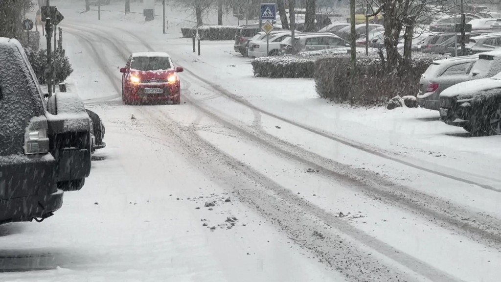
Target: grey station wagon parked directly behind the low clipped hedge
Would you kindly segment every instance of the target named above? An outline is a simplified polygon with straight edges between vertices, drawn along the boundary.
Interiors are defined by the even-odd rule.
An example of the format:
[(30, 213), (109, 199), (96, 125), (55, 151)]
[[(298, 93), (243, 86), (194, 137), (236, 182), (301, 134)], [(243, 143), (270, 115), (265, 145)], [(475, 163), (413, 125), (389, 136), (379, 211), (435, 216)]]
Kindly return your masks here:
[[(297, 36), (294, 48), (297, 52), (316, 51), (350, 46), (348, 42), (331, 33), (303, 33)], [(291, 54), (292, 38), (288, 37), (280, 43), (282, 54)]]

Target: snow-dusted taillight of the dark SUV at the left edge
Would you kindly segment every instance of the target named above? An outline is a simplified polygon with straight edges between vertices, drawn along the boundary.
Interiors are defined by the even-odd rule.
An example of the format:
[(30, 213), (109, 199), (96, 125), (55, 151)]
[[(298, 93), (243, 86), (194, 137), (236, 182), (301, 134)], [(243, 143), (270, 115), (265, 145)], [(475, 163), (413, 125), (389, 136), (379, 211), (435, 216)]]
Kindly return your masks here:
[(33, 117), (25, 133), (25, 155), (45, 154), (49, 152), (47, 120)]

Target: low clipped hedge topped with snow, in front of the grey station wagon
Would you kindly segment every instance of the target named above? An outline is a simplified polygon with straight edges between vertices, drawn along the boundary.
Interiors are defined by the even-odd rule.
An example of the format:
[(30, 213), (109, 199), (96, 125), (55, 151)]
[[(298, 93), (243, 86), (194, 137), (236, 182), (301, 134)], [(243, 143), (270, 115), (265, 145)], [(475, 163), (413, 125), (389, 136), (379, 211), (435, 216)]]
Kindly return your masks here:
[[(370, 54), (376, 51), (370, 48)], [(315, 73), (315, 60), (322, 57), (345, 55), (349, 48), (326, 49), (301, 52), (296, 56), (262, 57), (252, 60), (254, 75), (274, 78), (312, 78)], [(357, 48), (358, 54), (365, 54), (365, 48)]]

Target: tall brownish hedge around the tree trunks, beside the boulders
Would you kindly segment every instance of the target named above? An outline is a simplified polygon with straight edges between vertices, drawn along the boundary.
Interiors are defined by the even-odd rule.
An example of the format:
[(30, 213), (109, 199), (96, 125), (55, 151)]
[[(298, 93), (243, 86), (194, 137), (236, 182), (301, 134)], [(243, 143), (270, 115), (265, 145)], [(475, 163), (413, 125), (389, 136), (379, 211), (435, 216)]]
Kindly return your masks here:
[[(419, 56), (411, 66), (388, 75), (377, 56), (357, 58), (355, 73), (350, 70), (349, 55), (319, 58), (315, 61), (315, 87), (322, 98), (333, 101), (382, 105), (395, 96), (415, 95), (421, 74), (436, 59), (436, 56)], [(351, 79), (355, 83), (350, 83)]]

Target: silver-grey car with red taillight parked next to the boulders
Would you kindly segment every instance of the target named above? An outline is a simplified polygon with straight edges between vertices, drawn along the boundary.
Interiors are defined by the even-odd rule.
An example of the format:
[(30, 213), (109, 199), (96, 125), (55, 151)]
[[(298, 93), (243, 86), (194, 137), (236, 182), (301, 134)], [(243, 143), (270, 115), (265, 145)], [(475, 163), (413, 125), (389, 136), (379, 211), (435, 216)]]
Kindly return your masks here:
[(467, 81), (478, 55), (437, 60), (421, 75), (418, 104), (427, 109), (440, 108), (440, 93), (448, 87)]

